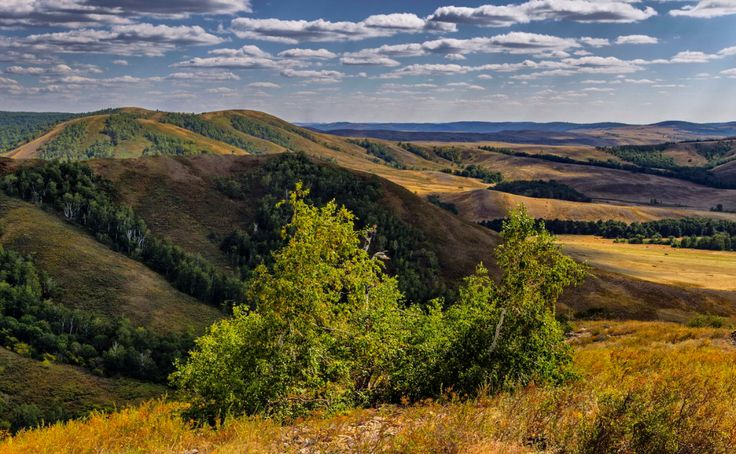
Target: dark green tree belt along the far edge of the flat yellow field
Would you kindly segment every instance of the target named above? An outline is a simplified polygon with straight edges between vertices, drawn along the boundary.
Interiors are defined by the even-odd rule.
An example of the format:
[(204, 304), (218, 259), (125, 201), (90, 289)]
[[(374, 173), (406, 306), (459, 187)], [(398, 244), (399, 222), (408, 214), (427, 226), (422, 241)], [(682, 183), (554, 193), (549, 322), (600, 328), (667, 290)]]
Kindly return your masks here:
[[(543, 220), (539, 223), (560, 235), (597, 235), (604, 238), (627, 240), (632, 244), (669, 244), (673, 247), (706, 249), (714, 251), (736, 250), (736, 222), (682, 218), (662, 219), (632, 224), (621, 221), (569, 221)], [(481, 224), (500, 230), (503, 219), (482, 221)]]

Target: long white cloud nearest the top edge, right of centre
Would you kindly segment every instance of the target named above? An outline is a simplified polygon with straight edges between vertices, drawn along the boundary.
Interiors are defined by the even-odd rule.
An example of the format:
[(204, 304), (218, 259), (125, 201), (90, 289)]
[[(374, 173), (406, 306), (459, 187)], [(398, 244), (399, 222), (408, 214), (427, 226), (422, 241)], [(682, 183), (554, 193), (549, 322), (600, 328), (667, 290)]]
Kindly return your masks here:
[(474, 24), (485, 27), (508, 27), (542, 20), (575, 22), (631, 23), (656, 16), (651, 8), (643, 9), (628, 0), (529, 0), (519, 4), (482, 5), (477, 8), (444, 6), (430, 16), (431, 21)]

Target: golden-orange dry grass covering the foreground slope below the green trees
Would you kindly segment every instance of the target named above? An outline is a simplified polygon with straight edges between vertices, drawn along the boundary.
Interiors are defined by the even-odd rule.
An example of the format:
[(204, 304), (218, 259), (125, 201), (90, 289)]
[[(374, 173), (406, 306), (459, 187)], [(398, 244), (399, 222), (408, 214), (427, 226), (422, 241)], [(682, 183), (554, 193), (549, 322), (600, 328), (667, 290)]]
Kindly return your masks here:
[(726, 328), (578, 322), (578, 379), (473, 401), (384, 406), (278, 424), (196, 428), (152, 401), (19, 433), (7, 453), (732, 452), (736, 348)]

